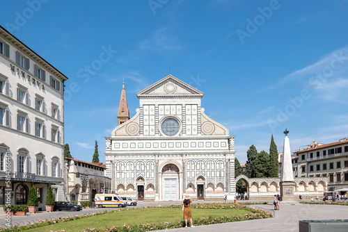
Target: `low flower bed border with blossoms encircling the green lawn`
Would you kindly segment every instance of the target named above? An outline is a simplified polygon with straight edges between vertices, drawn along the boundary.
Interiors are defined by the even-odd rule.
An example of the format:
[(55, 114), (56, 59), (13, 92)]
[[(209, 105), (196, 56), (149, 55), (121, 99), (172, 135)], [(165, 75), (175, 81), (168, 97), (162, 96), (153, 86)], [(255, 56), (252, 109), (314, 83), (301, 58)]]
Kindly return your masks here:
[[(144, 208), (181, 208), (181, 205), (177, 206), (157, 206), (157, 207), (144, 207)], [(249, 208), (242, 204), (192, 204), (191, 208), (205, 208), (205, 209), (226, 209), (226, 215), (223, 215), (221, 217), (196, 217), (193, 218), (193, 224), (195, 225), (206, 225), (206, 224), (219, 224), (219, 223), (225, 223), (225, 222), (237, 222), (237, 221), (244, 221), (244, 220), (251, 220), (251, 219), (262, 219), (262, 218), (269, 218), (272, 217), (271, 213), (267, 212), (266, 210), (258, 210), (255, 208)], [(247, 210), (250, 213), (246, 213), (244, 215), (228, 215), (229, 209), (240, 209), (240, 210)], [(94, 215), (102, 215), (106, 213), (114, 213), (124, 210), (141, 210), (141, 208), (119, 208), (111, 211), (102, 211), (99, 213), (92, 213), (88, 215), (76, 215), (75, 217), (61, 217), (59, 219), (55, 220), (48, 220), (48, 219), (41, 219), (38, 223), (32, 223), (28, 225), (22, 225), (22, 226), (13, 226), (8, 229), (0, 229), (0, 231), (23, 231), (26, 229), (36, 229), (42, 226), (48, 226), (51, 224), (61, 223), (61, 222), (69, 222), (81, 218), (91, 217)], [(87, 228), (83, 231), (155, 231), (159, 229), (173, 229), (173, 228), (180, 228), (182, 226), (182, 223), (184, 220), (180, 219), (177, 221), (171, 221), (171, 222), (153, 222), (153, 223), (144, 223), (144, 224), (124, 224), (124, 225), (118, 225), (118, 226), (106, 226), (102, 229), (97, 228)], [(40, 229), (38, 229), (40, 231)], [(60, 230), (64, 231), (64, 230)], [(55, 231), (58, 232), (58, 231)]]

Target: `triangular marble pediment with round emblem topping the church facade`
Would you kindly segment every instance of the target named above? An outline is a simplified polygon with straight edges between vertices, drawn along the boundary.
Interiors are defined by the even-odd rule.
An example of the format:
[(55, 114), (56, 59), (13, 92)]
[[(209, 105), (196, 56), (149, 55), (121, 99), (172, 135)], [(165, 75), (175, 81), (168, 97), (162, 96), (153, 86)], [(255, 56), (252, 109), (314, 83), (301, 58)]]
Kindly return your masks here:
[(191, 85), (180, 81), (172, 75), (157, 81), (150, 85), (145, 90), (142, 90), (136, 97), (203, 97), (203, 92), (200, 92)]

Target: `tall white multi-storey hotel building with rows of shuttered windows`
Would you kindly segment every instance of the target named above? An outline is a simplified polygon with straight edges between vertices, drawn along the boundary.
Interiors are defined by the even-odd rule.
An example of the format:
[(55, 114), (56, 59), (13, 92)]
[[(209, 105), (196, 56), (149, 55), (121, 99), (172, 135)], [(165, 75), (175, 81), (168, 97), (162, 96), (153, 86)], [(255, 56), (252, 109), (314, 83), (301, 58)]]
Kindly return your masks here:
[(26, 204), (32, 183), (39, 210), (45, 208), (49, 183), (56, 200), (64, 199), (67, 80), (0, 26), (0, 204)]

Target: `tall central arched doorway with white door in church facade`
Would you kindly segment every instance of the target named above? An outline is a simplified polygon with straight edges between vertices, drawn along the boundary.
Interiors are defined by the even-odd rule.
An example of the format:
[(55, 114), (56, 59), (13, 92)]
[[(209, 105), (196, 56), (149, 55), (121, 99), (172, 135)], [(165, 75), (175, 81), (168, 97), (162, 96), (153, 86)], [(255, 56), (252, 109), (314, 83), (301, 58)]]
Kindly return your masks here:
[(179, 196), (179, 168), (169, 163), (162, 168), (162, 179), (164, 183), (164, 200), (176, 201)]

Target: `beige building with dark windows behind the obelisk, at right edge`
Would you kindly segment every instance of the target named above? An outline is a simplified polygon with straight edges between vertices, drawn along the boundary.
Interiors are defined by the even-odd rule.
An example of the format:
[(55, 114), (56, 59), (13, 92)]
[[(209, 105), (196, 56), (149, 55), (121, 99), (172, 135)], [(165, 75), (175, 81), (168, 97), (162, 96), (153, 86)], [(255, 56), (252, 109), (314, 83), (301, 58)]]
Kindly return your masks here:
[(330, 191), (348, 188), (348, 138), (329, 144), (315, 141), (294, 155), (299, 177), (326, 177)]

